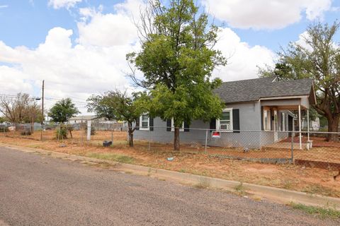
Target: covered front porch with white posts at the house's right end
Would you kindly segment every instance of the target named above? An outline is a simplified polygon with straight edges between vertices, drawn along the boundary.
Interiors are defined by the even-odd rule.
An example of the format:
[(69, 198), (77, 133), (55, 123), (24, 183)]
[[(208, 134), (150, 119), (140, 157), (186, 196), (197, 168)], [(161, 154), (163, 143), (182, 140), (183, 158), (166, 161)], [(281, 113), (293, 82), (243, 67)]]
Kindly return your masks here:
[[(268, 97), (261, 98), (261, 138), (263, 148), (312, 148), (310, 141), (310, 105), (314, 100), (310, 96)], [(307, 131), (302, 131), (302, 113), (307, 118)], [(295, 129), (297, 128), (297, 129)], [(304, 141), (302, 141), (302, 134)], [(290, 137), (297, 136), (298, 142)], [(307, 138), (307, 139), (306, 139)]]

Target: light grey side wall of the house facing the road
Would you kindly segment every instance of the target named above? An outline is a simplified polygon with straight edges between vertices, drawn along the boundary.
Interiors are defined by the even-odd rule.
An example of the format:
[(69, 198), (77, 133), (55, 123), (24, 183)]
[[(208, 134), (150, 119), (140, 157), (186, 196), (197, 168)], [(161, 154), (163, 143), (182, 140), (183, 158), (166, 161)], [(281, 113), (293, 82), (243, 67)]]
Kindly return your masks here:
[[(220, 147), (261, 147), (261, 106), (260, 102), (243, 102), (227, 105), (227, 108), (239, 109), (239, 133), (222, 132), (220, 138), (211, 138), (208, 133), (208, 145)], [(151, 140), (161, 143), (172, 143), (174, 131), (166, 131), (166, 121), (159, 117), (153, 120), (153, 131), (137, 130), (134, 132), (136, 140)], [(203, 130), (198, 130), (203, 129)], [(193, 120), (189, 131), (180, 132), (181, 143), (205, 143), (205, 129), (210, 129), (210, 122)], [(244, 131), (247, 130), (247, 131)]]

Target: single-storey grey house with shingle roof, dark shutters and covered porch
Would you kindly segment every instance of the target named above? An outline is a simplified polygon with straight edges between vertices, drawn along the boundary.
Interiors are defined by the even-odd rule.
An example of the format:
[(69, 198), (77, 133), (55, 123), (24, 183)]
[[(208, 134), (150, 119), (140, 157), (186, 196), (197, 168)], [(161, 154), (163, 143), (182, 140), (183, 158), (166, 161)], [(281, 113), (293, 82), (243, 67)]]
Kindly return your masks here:
[[(261, 148), (290, 136), (297, 111), (307, 111), (316, 103), (314, 85), (311, 79), (279, 81), (278, 78), (255, 78), (225, 82), (214, 92), (225, 103), (222, 117), (210, 122), (201, 120), (186, 123), (180, 129), (181, 143), (205, 143), (209, 130), (208, 145), (222, 147)], [(159, 117), (150, 119), (147, 114), (140, 116), (140, 129), (135, 139), (171, 143), (174, 139), (173, 121)], [(212, 131), (220, 131), (220, 138), (212, 138)], [(300, 148), (301, 148), (301, 133)]]

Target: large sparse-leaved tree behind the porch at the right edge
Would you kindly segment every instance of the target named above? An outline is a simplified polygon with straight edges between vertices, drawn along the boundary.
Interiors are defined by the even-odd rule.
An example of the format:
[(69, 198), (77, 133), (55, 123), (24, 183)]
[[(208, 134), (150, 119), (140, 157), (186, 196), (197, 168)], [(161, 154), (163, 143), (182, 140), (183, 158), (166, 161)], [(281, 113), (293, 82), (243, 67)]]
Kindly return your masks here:
[[(290, 42), (278, 53), (274, 69), (260, 70), (261, 76), (292, 80), (313, 78), (317, 94), (317, 113), (328, 121), (328, 131), (338, 132), (340, 118), (340, 47), (334, 37), (339, 23), (316, 23), (307, 28), (305, 44)], [(329, 133), (329, 141), (339, 141), (339, 136)]]

